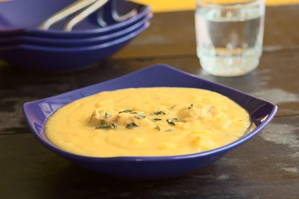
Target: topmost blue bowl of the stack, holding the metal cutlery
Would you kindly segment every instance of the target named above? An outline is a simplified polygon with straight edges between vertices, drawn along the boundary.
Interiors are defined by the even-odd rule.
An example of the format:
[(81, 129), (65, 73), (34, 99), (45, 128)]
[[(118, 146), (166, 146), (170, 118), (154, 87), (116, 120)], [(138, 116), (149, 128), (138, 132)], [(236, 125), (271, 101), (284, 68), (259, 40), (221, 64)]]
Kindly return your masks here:
[[(140, 21), (151, 10), (150, 7), (142, 6), (138, 9), (138, 14), (123, 22), (117, 22), (111, 14), (112, 3), (110, 0), (101, 10), (103, 10), (103, 20), (106, 27), (98, 23), (98, 14), (94, 12), (87, 19), (74, 26), (71, 32), (62, 30), (68, 19), (54, 24), (49, 30), (41, 30), (37, 27), (52, 14), (65, 8), (76, 0), (11, 0), (1, 2), (0, 5), (0, 36), (31, 35), (55, 38), (86, 38), (106, 35), (128, 28)], [(126, 3), (123, 3), (125, 6)], [(131, 6), (131, 3), (128, 4)], [(22, 11), (20, 11), (22, 10)]]

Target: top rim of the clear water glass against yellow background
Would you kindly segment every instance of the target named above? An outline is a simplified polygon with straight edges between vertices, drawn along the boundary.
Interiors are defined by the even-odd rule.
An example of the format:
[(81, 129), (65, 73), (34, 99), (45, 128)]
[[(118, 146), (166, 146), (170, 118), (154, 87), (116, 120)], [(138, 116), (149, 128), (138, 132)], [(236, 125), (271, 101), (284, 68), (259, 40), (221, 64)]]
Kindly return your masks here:
[(255, 0), (250, 2), (239, 2), (239, 3), (227, 3), (227, 4), (219, 4), (212, 2), (204, 2), (202, 0), (196, 0), (196, 5), (204, 5), (205, 7), (211, 8), (229, 8), (229, 9), (240, 9), (247, 7), (254, 7), (258, 5), (265, 5), (265, 0)]

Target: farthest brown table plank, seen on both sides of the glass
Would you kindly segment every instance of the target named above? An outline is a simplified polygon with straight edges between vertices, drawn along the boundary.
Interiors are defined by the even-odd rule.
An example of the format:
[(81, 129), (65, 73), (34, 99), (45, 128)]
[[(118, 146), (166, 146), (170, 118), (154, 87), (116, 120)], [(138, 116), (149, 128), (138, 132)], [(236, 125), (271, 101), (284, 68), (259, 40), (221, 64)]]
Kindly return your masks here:
[[(299, 5), (266, 8), (264, 52), (299, 50)], [(194, 11), (154, 13), (149, 28), (113, 58), (196, 54)]]

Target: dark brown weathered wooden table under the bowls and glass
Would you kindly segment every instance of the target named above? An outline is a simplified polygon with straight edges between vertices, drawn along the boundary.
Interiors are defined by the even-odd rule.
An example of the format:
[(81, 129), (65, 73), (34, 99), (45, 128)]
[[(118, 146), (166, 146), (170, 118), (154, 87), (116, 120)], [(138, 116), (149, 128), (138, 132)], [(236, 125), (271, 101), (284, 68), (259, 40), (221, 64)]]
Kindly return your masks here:
[[(267, 8), (264, 54), (253, 73), (207, 75), (195, 55), (192, 11), (156, 13), (150, 28), (112, 59), (80, 73), (0, 70), (1, 199), (299, 199), (299, 5)], [(126, 180), (74, 166), (45, 149), (21, 106), (166, 63), (278, 104), (273, 122), (225, 158), (185, 176)]]

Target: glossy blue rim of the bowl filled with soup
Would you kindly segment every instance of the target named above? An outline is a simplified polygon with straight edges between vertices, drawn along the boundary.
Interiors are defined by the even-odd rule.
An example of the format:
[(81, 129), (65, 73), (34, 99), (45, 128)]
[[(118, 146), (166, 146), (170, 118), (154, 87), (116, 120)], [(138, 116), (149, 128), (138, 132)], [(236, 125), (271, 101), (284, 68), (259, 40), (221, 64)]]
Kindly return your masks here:
[[(56, 95), (56, 96), (52, 96), (52, 97), (49, 97), (49, 98), (44, 98), (44, 99), (40, 99), (40, 100), (34, 100), (34, 101), (30, 101), (30, 102), (26, 102), (23, 104), (22, 106), (22, 110), (23, 110), (23, 115), (25, 117), (25, 120), (26, 120), (26, 123), (27, 125), (29, 126), (31, 132), (33, 133), (33, 135), (36, 137), (36, 139), (41, 142), (42, 145), (44, 145), (47, 149), (49, 149), (50, 151), (52, 152), (59, 152), (59, 154), (63, 154), (64, 157), (70, 157), (70, 158), (76, 158), (76, 159), (85, 159), (85, 160), (88, 160), (88, 161), (103, 161), (103, 162), (106, 162), (106, 161), (129, 161), (129, 162), (135, 162), (135, 161), (140, 161), (140, 162), (153, 162), (153, 161), (170, 161), (170, 160), (180, 160), (180, 159), (190, 159), (190, 158), (197, 158), (197, 157), (202, 157), (202, 156), (208, 156), (208, 155), (213, 155), (213, 154), (216, 154), (216, 153), (219, 153), (219, 152), (222, 152), (222, 151), (226, 151), (226, 150), (229, 150), (229, 149), (232, 149), (232, 148), (235, 148), (241, 144), (243, 144), (244, 142), (248, 141), (250, 138), (254, 137), (255, 135), (257, 135), (263, 128), (265, 128), (266, 125), (268, 125), (268, 123), (274, 118), (276, 112), (277, 112), (277, 105), (272, 103), (272, 102), (269, 102), (267, 100), (262, 100), (262, 99), (259, 99), (257, 97), (254, 97), (250, 94), (246, 94), (242, 91), (239, 91), (239, 90), (236, 90), (236, 89), (233, 89), (233, 88), (230, 88), (228, 86), (225, 86), (225, 85), (221, 85), (219, 83), (215, 83), (215, 82), (212, 82), (212, 81), (209, 81), (209, 80), (205, 80), (203, 79), (204, 81), (206, 81), (207, 83), (209, 84), (213, 84), (213, 85), (218, 85), (218, 86), (221, 86), (221, 87), (225, 87), (225, 88), (228, 88), (230, 90), (233, 90), (234, 92), (238, 92), (238, 93), (241, 93), (243, 95), (246, 95), (246, 96), (250, 96), (254, 99), (258, 99), (258, 100), (262, 100), (262, 101), (265, 101), (267, 102), (268, 104), (271, 104), (273, 106), (271, 112), (269, 113), (269, 115), (267, 116), (267, 118), (257, 127), (255, 128), (253, 131), (251, 131), (250, 133), (248, 133), (247, 135), (239, 138), (238, 140), (232, 142), (232, 143), (229, 143), (227, 145), (224, 145), (222, 147), (219, 147), (219, 148), (216, 148), (216, 149), (212, 149), (212, 150), (208, 150), (208, 151), (203, 151), (203, 152), (198, 152), (198, 153), (193, 153), (193, 154), (184, 154), (184, 155), (175, 155), (175, 156), (118, 156), (118, 157), (91, 157), (91, 156), (83, 156), (83, 155), (78, 155), (78, 154), (74, 154), (74, 153), (71, 153), (71, 152), (67, 152), (63, 149), (60, 149), (59, 147), (55, 146), (54, 144), (50, 143), (50, 141), (46, 141), (44, 140), (41, 135), (36, 131), (35, 127), (32, 126), (28, 121), (29, 121), (29, 116), (28, 116), (28, 111), (29, 109), (27, 109), (27, 106), (29, 104), (32, 104), (32, 103), (36, 103), (38, 101), (41, 101), (41, 100), (46, 100), (46, 99), (51, 99), (53, 97), (59, 97), (59, 96), (65, 96), (65, 95), (68, 95), (68, 94), (71, 94), (71, 93), (77, 93), (79, 92), (80, 90), (82, 89), (88, 89), (88, 88), (91, 88), (95, 85), (99, 85), (99, 84), (102, 84), (102, 83), (109, 83), (109, 82), (113, 82), (115, 80), (120, 80), (122, 78), (125, 78), (125, 77), (130, 77), (131, 75), (136, 75), (138, 73), (142, 73), (142, 72), (145, 72), (149, 69), (152, 69), (152, 68), (155, 68), (155, 67), (164, 67), (164, 68), (167, 68), (167, 69), (171, 69), (171, 70), (174, 70), (176, 72), (179, 72), (179, 73), (182, 73), (182, 74), (185, 74), (185, 75), (189, 75), (189, 76), (192, 76), (192, 77), (195, 77), (195, 78), (198, 78), (198, 79), (202, 79), (202, 78), (199, 78), (198, 76), (195, 76), (193, 74), (189, 74), (187, 72), (184, 72), (184, 71), (181, 71), (181, 70), (178, 70), (176, 68), (173, 68), (171, 66), (168, 66), (166, 64), (156, 64), (156, 65), (152, 65), (152, 66), (149, 66), (149, 67), (146, 67), (146, 68), (143, 68), (143, 69), (140, 69), (138, 71), (134, 71), (132, 73), (129, 73), (129, 74), (126, 74), (126, 75), (123, 75), (123, 76), (120, 76), (120, 77), (117, 77), (117, 78), (114, 78), (112, 80), (108, 80), (108, 81), (105, 81), (105, 82), (101, 82), (101, 83), (98, 83), (98, 84), (94, 84), (94, 85), (90, 85), (90, 86), (87, 86), (87, 87), (83, 87), (83, 88), (80, 88), (80, 89), (76, 89), (74, 91), (69, 91), (69, 92), (66, 92), (66, 93), (63, 93), (63, 94), (59, 94), (59, 95)], [(78, 99), (79, 100), (79, 99)], [(52, 114), (52, 113), (51, 113)], [(46, 118), (48, 118), (49, 116), (47, 116)], [(46, 119), (45, 119), (46, 121)], [(43, 122), (43, 126), (45, 124), (45, 121)], [(42, 127), (43, 127), (42, 126)]]

